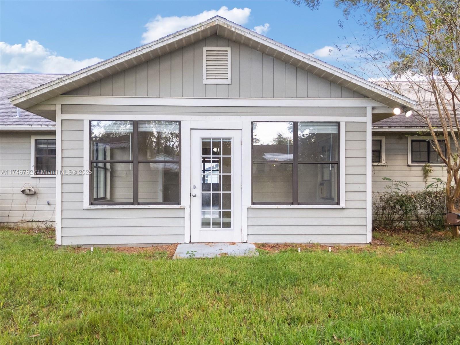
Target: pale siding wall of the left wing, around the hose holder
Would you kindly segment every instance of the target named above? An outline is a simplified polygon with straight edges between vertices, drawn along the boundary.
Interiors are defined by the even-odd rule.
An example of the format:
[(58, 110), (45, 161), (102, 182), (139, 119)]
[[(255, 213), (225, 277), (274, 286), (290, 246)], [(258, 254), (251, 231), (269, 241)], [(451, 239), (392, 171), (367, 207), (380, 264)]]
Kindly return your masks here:
[[(51, 132), (1, 132), (0, 171), (30, 170), (31, 135), (52, 135)], [(21, 193), (29, 183), (33, 195)], [(47, 204), (49, 201), (50, 205)], [(56, 213), (56, 178), (32, 178), (19, 173), (2, 173), (0, 176), (0, 223), (18, 223), (23, 226), (54, 224)], [(37, 223), (40, 222), (40, 223)]]

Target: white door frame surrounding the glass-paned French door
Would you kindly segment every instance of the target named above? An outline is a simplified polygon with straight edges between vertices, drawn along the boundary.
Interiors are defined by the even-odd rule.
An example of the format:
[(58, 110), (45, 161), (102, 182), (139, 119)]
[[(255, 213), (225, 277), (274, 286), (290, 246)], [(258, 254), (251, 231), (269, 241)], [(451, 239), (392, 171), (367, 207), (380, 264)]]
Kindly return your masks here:
[[(247, 242), (247, 208), (251, 205), (251, 160), (245, 157), (251, 156), (251, 120), (220, 121), (219, 114), (211, 114), (205, 121), (181, 121), (181, 142), (184, 148), (181, 152), (181, 206), (184, 207), (184, 243), (190, 243), (190, 190), (191, 190), (191, 130), (192, 129), (240, 129), (242, 130), (242, 241)], [(189, 149), (185, 149), (186, 147)]]

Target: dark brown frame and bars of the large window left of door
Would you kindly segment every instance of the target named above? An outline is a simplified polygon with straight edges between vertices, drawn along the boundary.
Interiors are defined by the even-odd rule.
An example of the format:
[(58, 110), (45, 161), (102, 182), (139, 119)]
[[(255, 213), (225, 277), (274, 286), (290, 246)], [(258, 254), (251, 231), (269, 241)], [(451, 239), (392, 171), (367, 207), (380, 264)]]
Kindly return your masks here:
[[(131, 121), (132, 122), (132, 160), (93, 160), (92, 159), (92, 132), (91, 132), (91, 122), (92, 121)], [(138, 160), (138, 123), (139, 121), (173, 121), (179, 123), (179, 159), (175, 161), (161, 161), (161, 160)], [(182, 184), (182, 169), (181, 169), (181, 161), (182, 161), (182, 122), (181, 121), (174, 121), (174, 120), (90, 120), (89, 121), (89, 166), (90, 170), (92, 171), (92, 164), (93, 163), (104, 163), (104, 170), (105, 164), (107, 163), (130, 163), (132, 164), (132, 202), (101, 202), (97, 199), (93, 199), (92, 195), (92, 177), (89, 178), (89, 204), (90, 205), (112, 205), (112, 206), (123, 206), (123, 205), (132, 205), (132, 206), (143, 206), (143, 205), (180, 205), (181, 202), (181, 184)], [(105, 157), (105, 153), (104, 153)], [(138, 166), (142, 163), (150, 163), (150, 164), (178, 164), (179, 167), (179, 200), (177, 202), (139, 202), (138, 194), (139, 194), (139, 173), (138, 173)], [(105, 195), (105, 187), (104, 187), (104, 195)]]

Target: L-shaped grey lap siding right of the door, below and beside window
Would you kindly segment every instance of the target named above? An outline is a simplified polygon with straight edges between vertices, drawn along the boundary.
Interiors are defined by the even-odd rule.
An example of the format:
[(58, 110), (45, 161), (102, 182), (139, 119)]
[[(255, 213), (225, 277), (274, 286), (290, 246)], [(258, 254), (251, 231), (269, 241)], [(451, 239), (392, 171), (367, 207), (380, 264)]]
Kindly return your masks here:
[(249, 208), (248, 242), (366, 242), (366, 123), (345, 127), (345, 209)]

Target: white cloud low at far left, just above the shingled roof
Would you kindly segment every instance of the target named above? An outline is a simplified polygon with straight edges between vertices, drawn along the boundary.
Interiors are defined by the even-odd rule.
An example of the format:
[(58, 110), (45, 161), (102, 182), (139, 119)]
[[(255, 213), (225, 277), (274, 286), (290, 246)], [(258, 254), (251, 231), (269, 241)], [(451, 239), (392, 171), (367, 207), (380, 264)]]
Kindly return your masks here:
[(36, 40), (24, 45), (0, 42), (0, 71), (3, 73), (71, 73), (102, 61), (99, 57), (84, 60), (57, 55)]

